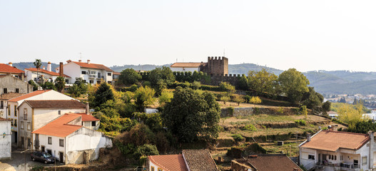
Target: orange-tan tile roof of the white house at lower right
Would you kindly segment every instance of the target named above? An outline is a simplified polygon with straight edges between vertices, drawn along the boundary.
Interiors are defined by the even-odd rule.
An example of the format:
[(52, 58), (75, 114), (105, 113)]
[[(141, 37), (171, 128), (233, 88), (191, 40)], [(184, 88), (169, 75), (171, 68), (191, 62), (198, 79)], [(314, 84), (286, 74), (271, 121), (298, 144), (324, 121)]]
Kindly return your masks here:
[(321, 130), (311, 138), (310, 142), (305, 142), (301, 147), (332, 152), (339, 148), (358, 150), (369, 140), (370, 136), (367, 134)]

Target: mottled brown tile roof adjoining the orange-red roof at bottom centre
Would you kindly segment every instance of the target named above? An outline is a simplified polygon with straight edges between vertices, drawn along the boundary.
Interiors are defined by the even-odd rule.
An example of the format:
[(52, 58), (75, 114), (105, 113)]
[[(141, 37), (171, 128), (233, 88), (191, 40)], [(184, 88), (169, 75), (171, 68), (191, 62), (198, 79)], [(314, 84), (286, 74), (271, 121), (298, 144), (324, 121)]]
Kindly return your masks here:
[(218, 170), (209, 150), (183, 150), (183, 157), (185, 157), (191, 171)]

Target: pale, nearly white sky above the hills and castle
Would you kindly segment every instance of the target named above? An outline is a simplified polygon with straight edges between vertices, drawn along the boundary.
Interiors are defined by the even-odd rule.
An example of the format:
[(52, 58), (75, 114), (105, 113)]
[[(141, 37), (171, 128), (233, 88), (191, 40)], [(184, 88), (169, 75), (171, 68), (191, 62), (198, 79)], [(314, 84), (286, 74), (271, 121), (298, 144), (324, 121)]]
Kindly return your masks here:
[[(0, 0), (0, 63), (376, 71), (376, 1)], [(80, 55), (81, 53), (81, 55)]]

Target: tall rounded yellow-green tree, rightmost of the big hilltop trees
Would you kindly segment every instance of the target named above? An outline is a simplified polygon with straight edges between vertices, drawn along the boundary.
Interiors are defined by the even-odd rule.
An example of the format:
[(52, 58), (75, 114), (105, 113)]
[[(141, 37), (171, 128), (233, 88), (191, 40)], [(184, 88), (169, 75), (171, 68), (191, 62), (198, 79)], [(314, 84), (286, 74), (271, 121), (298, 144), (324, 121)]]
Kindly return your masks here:
[(288, 71), (280, 73), (278, 78), (281, 91), (288, 97), (290, 103), (300, 104), (303, 98), (303, 93), (309, 91), (308, 85), (310, 81), (295, 68), (290, 68)]

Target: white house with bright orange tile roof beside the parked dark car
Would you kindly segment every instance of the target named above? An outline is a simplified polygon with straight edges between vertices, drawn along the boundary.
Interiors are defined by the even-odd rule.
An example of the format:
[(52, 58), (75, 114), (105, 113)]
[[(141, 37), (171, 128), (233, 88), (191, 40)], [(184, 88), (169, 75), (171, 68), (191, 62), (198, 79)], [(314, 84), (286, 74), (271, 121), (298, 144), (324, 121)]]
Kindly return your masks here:
[(66, 165), (97, 160), (99, 150), (112, 147), (112, 141), (101, 132), (83, 127), (81, 122), (81, 115), (62, 115), (34, 130), (34, 140), (39, 143), (41, 150), (46, 150)]

